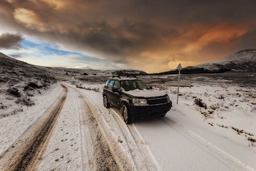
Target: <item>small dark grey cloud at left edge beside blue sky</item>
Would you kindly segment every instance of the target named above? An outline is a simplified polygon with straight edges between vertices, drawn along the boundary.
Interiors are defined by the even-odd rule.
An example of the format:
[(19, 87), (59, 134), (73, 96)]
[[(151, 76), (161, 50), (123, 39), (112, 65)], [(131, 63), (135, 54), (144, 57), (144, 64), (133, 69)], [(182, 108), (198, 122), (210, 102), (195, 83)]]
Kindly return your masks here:
[(4, 33), (0, 35), (0, 48), (19, 48), (22, 40), (24, 39), (20, 34)]

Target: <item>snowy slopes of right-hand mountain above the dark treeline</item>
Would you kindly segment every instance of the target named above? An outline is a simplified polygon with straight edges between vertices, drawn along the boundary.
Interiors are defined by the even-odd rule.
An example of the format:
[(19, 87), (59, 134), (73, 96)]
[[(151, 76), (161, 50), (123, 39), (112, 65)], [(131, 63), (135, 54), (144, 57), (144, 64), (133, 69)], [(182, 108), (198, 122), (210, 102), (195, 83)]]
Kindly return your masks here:
[(195, 67), (209, 70), (228, 68), (234, 71), (256, 71), (256, 49), (232, 53), (215, 62), (204, 63)]

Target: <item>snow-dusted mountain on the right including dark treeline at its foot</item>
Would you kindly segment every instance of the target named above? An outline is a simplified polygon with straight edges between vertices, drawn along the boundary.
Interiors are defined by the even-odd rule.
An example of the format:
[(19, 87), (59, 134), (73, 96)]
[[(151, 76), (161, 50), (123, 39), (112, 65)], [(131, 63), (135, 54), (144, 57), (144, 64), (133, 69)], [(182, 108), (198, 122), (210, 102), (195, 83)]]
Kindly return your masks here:
[[(189, 66), (181, 69), (181, 74), (222, 73), (226, 71), (256, 71), (256, 49), (232, 53), (215, 62)], [(178, 74), (178, 70), (160, 72), (157, 75)]]

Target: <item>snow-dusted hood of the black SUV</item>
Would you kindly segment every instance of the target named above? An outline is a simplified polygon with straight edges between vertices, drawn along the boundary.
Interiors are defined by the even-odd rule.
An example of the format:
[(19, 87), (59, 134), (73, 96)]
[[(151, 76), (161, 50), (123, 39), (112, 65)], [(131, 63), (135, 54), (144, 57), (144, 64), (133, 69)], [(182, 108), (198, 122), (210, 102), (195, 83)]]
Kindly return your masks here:
[(132, 96), (135, 96), (135, 97), (157, 97), (157, 96), (166, 95), (166, 93), (164, 93), (164, 92), (161, 92), (159, 90), (152, 90), (152, 89), (150, 89), (150, 90), (136, 89), (136, 90), (131, 90), (131, 91), (123, 91), (123, 92), (126, 93), (126, 94), (130, 94)]

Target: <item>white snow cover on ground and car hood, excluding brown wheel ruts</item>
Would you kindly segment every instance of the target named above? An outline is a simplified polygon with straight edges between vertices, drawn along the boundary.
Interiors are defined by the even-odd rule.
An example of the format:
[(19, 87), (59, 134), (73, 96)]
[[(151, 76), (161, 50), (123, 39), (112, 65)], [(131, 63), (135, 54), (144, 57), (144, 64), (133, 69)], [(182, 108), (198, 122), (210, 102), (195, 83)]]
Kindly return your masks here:
[[(103, 107), (104, 83), (69, 80), (68, 85), (73, 89), (68, 88), (66, 102), (48, 146), (40, 156), (38, 169), (88, 169), (83, 167), (83, 162), (88, 160), (83, 158), (83, 148), (89, 144), (83, 141), (79, 120), (78, 96), (83, 95), (111, 150), (117, 158), (123, 158), (119, 162), (123, 166), (130, 164), (127, 170), (255, 170), (255, 142), (249, 140), (256, 139), (255, 88), (219, 82), (223, 82), (222, 86), (193, 83), (193, 87), (180, 87), (179, 104), (172, 103), (165, 117), (138, 119), (126, 126), (118, 108)], [(23, 112), (0, 119), (0, 155), (61, 92), (58, 84), (49, 94), (39, 96), (34, 106), (23, 107)], [(171, 101), (176, 102), (177, 87), (165, 83), (164, 87), (161, 84), (153, 90), (126, 93), (168, 94)], [(194, 104), (195, 99), (201, 99), (206, 108)]]

